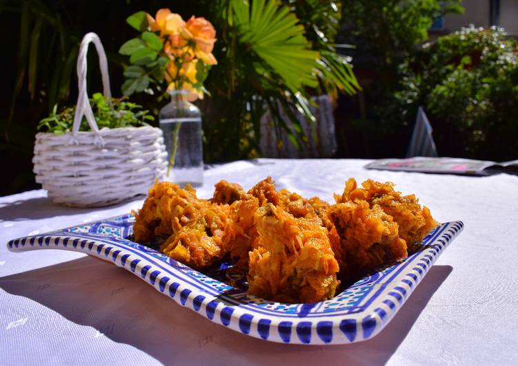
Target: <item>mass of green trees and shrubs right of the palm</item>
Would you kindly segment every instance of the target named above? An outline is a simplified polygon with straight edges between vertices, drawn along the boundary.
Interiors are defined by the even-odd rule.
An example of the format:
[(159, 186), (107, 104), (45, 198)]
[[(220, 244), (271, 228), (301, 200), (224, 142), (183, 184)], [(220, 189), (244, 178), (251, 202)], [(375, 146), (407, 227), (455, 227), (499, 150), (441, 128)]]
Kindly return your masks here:
[[(417, 108), (424, 107), (441, 156), (515, 160), (517, 43), (498, 29), (466, 29), (428, 39), (440, 14), (461, 1), (344, 1), (353, 43), (358, 103), (337, 114), (343, 155), (406, 155)], [(350, 138), (355, 136), (356, 138)], [(360, 138), (359, 138), (360, 137)]]

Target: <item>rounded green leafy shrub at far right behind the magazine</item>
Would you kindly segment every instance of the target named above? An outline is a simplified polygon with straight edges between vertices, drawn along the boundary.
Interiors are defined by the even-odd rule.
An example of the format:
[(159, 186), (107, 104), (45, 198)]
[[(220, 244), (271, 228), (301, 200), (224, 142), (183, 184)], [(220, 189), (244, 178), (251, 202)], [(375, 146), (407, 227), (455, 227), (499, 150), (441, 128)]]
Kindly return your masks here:
[(399, 103), (424, 106), (440, 155), (517, 158), (517, 42), (504, 30), (471, 27), (443, 36), (405, 72)]

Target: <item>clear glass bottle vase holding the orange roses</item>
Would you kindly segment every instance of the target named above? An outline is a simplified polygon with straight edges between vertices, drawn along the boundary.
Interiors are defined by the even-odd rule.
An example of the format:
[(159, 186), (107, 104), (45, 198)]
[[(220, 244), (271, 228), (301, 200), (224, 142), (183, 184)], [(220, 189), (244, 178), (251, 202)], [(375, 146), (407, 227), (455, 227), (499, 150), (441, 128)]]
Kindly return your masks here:
[(203, 184), (201, 113), (188, 102), (186, 90), (169, 92), (171, 101), (160, 110), (160, 129), (168, 151), (166, 180), (180, 185)]

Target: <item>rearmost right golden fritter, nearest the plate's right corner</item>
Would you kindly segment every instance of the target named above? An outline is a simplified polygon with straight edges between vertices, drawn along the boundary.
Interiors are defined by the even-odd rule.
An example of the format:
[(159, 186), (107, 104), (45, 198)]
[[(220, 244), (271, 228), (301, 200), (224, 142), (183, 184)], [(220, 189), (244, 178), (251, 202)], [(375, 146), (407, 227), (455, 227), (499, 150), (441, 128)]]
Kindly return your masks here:
[(379, 205), (399, 225), (399, 236), (408, 246), (421, 242), (439, 223), (433, 219), (430, 210), (419, 205), (415, 195), (401, 195), (394, 191), (392, 182), (380, 183), (366, 180), (357, 188), (356, 181), (350, 178), (341, 196), (335, 195), (337, 203), (365, 200), (369, 206)]

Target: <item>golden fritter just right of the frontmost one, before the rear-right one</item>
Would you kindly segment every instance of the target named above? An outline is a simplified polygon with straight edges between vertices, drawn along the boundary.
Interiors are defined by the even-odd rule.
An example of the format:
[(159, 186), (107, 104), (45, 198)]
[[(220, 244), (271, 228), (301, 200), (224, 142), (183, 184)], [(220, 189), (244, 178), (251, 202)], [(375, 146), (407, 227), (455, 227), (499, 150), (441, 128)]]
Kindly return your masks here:
[(348, 274), (357, 275), (407, 256), (398, 225), (379, 205), (363, 200), (330, 206), (328, 215), (346, 253)]

